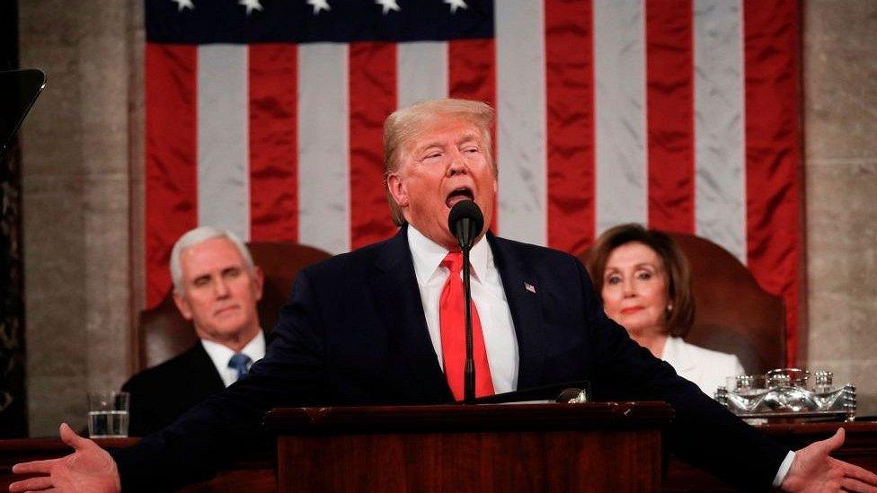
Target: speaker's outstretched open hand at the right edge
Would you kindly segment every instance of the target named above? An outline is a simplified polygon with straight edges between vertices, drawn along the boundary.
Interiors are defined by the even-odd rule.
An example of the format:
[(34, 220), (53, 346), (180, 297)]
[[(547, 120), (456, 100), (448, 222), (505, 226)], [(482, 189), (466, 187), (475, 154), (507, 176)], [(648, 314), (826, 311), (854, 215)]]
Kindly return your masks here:
[(844, 445), (845, 436), (844, 428), (840, 428), (831, 438), (813, 442), (795, 452), (781, 488), (784, 491), (877, 492), (877, 474), (830, 456)]

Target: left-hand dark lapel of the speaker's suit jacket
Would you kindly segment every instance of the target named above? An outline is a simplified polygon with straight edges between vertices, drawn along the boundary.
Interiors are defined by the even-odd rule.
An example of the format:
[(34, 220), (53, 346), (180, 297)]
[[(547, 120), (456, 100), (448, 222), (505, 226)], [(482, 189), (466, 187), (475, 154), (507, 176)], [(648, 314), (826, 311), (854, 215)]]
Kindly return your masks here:
[(407, 227), (401, 228), (376, 254), (376, 273), (368, 277), (369, 284), (390, 333), (421, 384), (421, 394), (429, 401), (435, 401), (437, 395), (453, 401), (432, 347), (407, 233)]

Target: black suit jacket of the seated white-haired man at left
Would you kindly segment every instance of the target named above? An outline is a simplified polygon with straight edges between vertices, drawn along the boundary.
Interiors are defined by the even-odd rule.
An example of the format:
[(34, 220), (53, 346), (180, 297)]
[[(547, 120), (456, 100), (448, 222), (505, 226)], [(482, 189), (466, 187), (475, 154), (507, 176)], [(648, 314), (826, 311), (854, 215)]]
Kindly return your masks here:
[(122, 385), (122, 391), (131, 394), (128, 435), (151, 435), (225, 388), (199, 341), (181, 355), (132, 376)]

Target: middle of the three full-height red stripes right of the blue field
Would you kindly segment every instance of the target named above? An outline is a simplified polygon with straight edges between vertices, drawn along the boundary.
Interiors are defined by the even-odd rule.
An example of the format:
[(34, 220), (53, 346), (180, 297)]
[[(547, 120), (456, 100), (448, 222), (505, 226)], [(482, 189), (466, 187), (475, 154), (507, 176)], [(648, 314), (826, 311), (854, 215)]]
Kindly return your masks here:
[(691, 0), (647, 0), (649, 226), (695, 233), (695, 92)]

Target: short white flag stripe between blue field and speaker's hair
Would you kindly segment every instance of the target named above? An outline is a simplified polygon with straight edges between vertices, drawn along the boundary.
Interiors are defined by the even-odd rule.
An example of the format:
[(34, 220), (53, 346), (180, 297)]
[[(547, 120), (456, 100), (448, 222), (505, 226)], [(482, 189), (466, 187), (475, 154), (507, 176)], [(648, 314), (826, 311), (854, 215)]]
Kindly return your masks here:
[(447, 43), (417, 41), (397, 46), (397, 107), (447, 98)]

